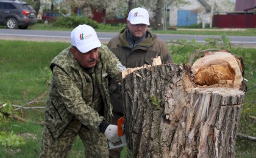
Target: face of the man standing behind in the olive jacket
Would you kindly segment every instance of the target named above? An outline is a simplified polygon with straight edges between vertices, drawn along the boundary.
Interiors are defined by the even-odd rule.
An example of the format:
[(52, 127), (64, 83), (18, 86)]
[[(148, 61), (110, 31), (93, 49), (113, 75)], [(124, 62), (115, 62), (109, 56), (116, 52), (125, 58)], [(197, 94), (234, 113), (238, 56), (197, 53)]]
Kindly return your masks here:
[(147, 29), (148, 29), (148, 25), (146, 24), (131, 24), (130, 21), (126, 21), (127, 23), (127, 27), (130, 30), (130, 34), (132, 34), (132, 36), (135, 36), (137, 38), (140, 38), (141, 36), (143, 36)]

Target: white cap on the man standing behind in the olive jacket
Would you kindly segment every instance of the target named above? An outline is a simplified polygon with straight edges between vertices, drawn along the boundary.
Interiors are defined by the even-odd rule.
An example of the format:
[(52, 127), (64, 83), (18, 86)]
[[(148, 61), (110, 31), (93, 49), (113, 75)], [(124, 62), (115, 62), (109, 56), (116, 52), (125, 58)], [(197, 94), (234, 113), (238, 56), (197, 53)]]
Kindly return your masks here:
[(130, 21), (131, 24), (146, 24), (149, 26), (149, 12), (143, 8), (135, 8), (130, 10), (127, 20)]

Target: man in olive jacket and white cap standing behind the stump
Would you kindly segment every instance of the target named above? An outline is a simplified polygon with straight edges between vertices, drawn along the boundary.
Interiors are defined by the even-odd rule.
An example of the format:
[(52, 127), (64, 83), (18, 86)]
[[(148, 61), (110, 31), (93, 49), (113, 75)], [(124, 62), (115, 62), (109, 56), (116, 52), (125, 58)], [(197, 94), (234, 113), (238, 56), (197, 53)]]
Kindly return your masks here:
[[(127, 68), (140, 67), (144, 64), (152, 65), (152, 58), (158, 56), (161, 57), (163, 64), (173, 63), (166, 43), (152, 34), (148, 26), (148, 11), (140, 7), (132, 9), (127, 18), (127, 28), (109, 41), (108, 48)], [(123, 109), (119, 86), (113, 80), (110, 84), (110, 100), (113, 105), (112, 124), (116, 125), (117, 119), (123, 116)], [(119, 156), (114, 156), (113, 153), (114, 150), (110, 150), (110, 155)]]

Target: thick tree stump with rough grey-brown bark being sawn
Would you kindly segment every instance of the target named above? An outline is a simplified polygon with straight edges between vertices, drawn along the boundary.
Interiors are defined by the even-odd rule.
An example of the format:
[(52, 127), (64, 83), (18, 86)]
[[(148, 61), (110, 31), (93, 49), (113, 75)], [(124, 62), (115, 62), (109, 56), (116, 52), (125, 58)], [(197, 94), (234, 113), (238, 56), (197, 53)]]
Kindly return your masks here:
[(244, 92), (197, 85), (190, 72), (184, 65), (162, 64), (123, 79), (125, 133), (133, 157), (235, 157)]

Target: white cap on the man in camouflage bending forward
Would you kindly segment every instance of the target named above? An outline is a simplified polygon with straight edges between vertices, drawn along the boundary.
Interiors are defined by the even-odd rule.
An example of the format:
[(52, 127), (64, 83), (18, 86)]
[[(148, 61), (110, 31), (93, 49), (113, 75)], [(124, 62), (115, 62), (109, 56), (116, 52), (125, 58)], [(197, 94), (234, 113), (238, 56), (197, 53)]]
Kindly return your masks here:
[(70, 40), (72, 46), (76, 46), (82, 53), (87, 53), (96, 47), (101, 47), (101, 42), (93, 27), (85, 24), (79, 25), (72, 30)]

